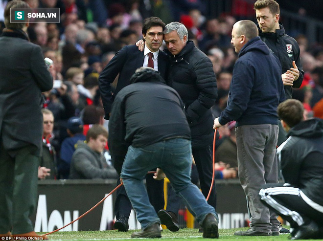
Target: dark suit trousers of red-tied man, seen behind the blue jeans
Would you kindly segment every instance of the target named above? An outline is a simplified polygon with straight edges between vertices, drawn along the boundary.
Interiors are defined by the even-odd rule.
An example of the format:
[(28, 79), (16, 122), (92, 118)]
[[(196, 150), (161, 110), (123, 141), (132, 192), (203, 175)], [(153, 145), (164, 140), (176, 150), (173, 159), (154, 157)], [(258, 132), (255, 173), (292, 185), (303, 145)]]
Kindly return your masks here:
[[(164, 208), (164, 181), (157, 181), (153, 178), (154, 174), (146, 175), (146, 187), (151, 205), (155, 208), (156, 213)], [(120, 184), (120, 179), (117, 180), (116, 185)], [(116, 190), (115, 198), (115, 218), (120, 216), (129, 218), (132, 206), (127, 196), (124, 186)]]

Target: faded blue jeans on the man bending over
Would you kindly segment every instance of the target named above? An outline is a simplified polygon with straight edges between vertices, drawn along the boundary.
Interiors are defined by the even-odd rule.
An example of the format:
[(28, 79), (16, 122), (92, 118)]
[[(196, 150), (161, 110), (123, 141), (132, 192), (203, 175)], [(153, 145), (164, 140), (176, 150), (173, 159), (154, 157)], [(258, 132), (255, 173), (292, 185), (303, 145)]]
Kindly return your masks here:
[(183, 198), (186, 207), (200, 224), (209, 213), (218, 219), (214, 208), (208, 205), (198, 187), (191, 183), (191, 164), (191, 144), (186, 139), (164, 140), (142, 148), (129, 147), (121, 178), (142, 229), (161, 223), (149, 203), (143, 183), (147, 172), (157, 167), (163, 170), (175, 192)]

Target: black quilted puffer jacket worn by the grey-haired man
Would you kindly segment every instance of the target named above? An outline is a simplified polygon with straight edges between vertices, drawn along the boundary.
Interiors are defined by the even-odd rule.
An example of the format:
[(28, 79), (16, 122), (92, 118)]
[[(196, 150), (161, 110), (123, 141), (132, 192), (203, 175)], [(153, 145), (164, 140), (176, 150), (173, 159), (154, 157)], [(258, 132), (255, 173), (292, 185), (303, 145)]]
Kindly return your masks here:
[(210, 108), (217, 98), (212, 63), (192, 41), (188, 41), (176, 56), (168, 50), (165, 52), (171, 60), (167, 84), (180, 94), (185, 104), (192, 147), (211, 145), (214, 118)]

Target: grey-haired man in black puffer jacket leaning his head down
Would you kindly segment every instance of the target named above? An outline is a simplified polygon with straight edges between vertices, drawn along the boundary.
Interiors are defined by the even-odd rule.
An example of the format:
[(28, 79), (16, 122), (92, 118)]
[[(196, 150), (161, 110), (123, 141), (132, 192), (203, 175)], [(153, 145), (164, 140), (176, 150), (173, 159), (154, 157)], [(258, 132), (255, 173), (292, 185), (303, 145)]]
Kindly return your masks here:
[[(163, 33), (167, 46), (165, 52), (171, 61), (167, 84), (180, 94), (184, 102), (191, 131), (192, 153), (202, 193), (207, 197), (212, 180), (211, 146), (214, 132), (210, 108), (217, 98), (215, 74), (210, 59), (192, 41), (187, 41), (184, 24), (168, 23)], [(216, 209), (215, 185), (208, 203)]]

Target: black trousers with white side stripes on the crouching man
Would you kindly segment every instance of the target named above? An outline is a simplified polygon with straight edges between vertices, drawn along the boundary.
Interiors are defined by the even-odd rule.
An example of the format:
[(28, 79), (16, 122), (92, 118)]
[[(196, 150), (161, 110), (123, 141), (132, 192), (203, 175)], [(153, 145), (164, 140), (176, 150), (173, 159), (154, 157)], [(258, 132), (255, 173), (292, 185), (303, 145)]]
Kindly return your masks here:
[(307, 204), (299, 188), (283, 185), (282, 183), (268, 183), (263, 186), (259, 192), (261, 201), (287, 220), (292, 228), (313, 220), (322, 229), (323, 213)]

